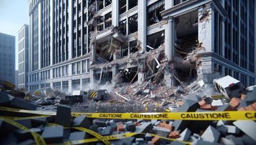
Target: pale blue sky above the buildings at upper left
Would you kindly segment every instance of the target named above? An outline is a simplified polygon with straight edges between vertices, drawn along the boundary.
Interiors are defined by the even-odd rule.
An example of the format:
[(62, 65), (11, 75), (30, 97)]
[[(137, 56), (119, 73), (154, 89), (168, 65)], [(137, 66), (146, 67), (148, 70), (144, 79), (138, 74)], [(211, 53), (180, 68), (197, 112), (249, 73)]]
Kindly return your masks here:
[(15, 69), (18, 70), (17, 32), (29, 24), (28, 0), (0, 0), (0, 32), (15, 36)]

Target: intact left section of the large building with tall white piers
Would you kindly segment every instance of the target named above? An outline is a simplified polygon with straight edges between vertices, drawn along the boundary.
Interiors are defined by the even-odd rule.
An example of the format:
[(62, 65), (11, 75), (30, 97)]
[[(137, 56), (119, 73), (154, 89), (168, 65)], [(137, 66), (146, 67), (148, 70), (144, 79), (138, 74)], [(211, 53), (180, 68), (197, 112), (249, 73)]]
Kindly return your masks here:
[(29, 90), (71, 92), (90, 82), (88, 1), (29, 0)]

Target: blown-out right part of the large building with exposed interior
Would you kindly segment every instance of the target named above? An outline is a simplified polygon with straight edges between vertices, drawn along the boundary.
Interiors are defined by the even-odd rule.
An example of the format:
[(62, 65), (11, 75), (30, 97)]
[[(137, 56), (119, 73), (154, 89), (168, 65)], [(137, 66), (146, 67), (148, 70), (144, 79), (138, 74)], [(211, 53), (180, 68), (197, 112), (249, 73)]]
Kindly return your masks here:
[[(123, 0), (106, 7), (101, 3), (106, 1), (92, 1), (89, 8), (94, 86), (116, 79), (157, 83), (164, 78), (167, 85), (189, 84), (195, 79), (211, 83), (216, 76), (225, 75), (240, 79), (245, 86), (255, 84), (255, 50), (250, 48), (255, 46), (255, 36), (248, 32), (250, 27), (241, 25), (238, 33), (248, 34), (252, 42), (243, 37), (238, 38), (238, 46), (227, 41), (235, 31), (225, 29), (237, 25), (230, 22), (232, 13), (227, 13), (232, 2)], [(251, 7), (255, 3), (241, 3), (252, 10), (248, 20), (255, 20)]]

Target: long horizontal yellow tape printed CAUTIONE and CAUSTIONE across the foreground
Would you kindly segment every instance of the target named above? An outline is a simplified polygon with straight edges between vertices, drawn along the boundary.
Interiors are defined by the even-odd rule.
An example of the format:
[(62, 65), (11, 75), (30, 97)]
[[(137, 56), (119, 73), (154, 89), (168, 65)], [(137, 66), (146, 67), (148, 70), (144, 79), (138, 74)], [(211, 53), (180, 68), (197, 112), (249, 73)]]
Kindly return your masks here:
[[(56, 115), (56, 112), (29, 111), (0, 107), (2, 111)], [(256, 120), (256, 111), (212, 111), (172, 113), (71, 113), (72, 116), (86, 115), (88, 118), (143, 119), (143, 120)]]

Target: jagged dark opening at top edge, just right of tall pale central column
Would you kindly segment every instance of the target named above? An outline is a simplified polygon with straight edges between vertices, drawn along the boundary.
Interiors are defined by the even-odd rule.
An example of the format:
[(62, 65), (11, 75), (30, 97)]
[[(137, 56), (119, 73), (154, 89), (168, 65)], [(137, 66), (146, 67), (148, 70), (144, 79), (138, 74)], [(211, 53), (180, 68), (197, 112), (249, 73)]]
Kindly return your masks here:
[(160, 22), (163, 17), (161, 16), (161, 11), (164, 10), (164, 0), (158, 1), (154, 4), (148, 6), (148, 26)]

